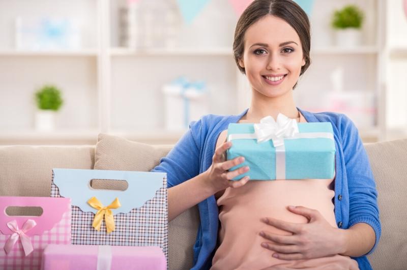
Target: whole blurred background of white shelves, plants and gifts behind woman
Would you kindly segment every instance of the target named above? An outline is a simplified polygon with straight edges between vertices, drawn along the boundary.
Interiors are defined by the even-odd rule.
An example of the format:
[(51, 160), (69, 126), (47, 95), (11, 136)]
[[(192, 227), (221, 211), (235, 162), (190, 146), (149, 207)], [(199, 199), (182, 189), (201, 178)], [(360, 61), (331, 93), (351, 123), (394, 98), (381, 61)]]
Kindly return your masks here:
[[(242, 112), (231, 46), (250, 2), (0, 0), (0, 144), (175, 143), (202, 114)], [(297, 106), (345, 113), (365, 142), (406, 138), (407, 1), (297, 3), (312, 31)]]

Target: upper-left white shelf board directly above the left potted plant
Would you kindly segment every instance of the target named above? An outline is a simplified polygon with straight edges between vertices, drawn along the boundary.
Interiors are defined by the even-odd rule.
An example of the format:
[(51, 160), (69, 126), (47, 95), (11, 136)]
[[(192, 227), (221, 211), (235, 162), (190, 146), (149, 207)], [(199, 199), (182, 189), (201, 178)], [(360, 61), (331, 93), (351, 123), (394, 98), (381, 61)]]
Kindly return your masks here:
[(0, 56), (96, 56), (97, 50), (49, 50), (49, 51), (31, 51), (31, 50), (10, 50), (0, 49)]

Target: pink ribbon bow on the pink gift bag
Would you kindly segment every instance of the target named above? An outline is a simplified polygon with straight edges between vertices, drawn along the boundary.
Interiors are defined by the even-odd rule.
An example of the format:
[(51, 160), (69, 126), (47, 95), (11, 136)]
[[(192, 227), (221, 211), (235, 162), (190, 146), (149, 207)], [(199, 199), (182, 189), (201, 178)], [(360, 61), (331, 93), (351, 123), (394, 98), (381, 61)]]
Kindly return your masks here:
[(24, 225), (22, 225), (21, 230), (18, 229), (17, 221), (13, 220), (7, 223), (7, 227), (13, 232), (13, 234), (10, 235), (9, 239), (7, 239), (6, 244), (4, 245), (4, 251), (6, 253), (9, 253), (14, 244), (16, 244), (18, 238), (20, 238), (22, 248), (24, 250), (25, 256), (29, 255), (31, 252), (33, 252), (33, 244), (31, 243), (30, 237), (28, 237), (25, 233), (32, 228), (34, 228), (37, 225), (37, 223), (32, 220), (28, 219)]

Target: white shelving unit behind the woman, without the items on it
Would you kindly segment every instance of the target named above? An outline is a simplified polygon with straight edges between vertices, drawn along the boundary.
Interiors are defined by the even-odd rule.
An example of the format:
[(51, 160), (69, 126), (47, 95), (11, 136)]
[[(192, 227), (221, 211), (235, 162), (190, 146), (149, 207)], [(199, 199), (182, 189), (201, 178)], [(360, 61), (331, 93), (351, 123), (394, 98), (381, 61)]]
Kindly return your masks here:
[[(183, 131), (163, 128), (161, 86), (179, 75), (207, 82), (210, 113), (236, 114), (248, 106), (250, 88), (231, 49), (237, 17), (227, 0), (211, 1), (191, 25), (182, 25), (178, 46), (148, 49), (119, 46), (118, 10), (126, 3), (123, 0), (52, 3), (0, 0), (0, 17), (7, 21), (0, 24), (0, 144), (94, 144), (100, 132), (146, 143), (175, 143)], [(314, 3), (312, 64), (295, 89), (297, 105), (315, 108), (312, 99), (332, 91), (330, 74), (340, 67), (345, 93), (365, 91), (375, 97), (371, 125), (358, 127), (362, 138), (376, 141), (404, 136), (407, 120), (404, 128), (400, 121), (400, 125), (389, 121), (397, 113), (407, 118), (405, 108), (396, 111), (389, 105), (397, 95), (394, 82), (387, 83), (392, 78), (390, 71), (405, 65), (407, 58), (405, 44), (385, 42), (392, 39), (388, 34), (392, 31), (390, 12), (396, 4), (380, 0)], [(360, 5), (366, 14), (364, 44), (351, 49), (336, 47), (329, 27), (333, 9), (348, 3)], [(33, 14), (75, 14), (82, 22), (83, 49), (16, 50), (14, 18)], [(45, 83), (60, 86), (65, 99), (58, 129), (52, 133), (33, 130), (32, 95)]]

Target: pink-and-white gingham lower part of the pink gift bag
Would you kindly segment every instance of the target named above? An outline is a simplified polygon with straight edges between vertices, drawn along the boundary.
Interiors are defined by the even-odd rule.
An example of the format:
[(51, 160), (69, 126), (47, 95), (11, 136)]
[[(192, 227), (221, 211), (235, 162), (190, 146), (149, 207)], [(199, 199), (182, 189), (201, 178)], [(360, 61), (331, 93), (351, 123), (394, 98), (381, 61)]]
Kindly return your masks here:
[[(28, 218), (27, 218), (28, 219)], [(48, 244), (69, 245), (71, 243), (71, 213), (65, 212), (60, 222), (55, 223), (49, 231), (42, 235), (30, 237), (33, 244), (33, 252), (25, 256), (20, 239), (14, 244), (9, 254), (3, 247), (11, 234), (0, 234), (0, 269), (2, 270), (39, 270), (41, 267), (42, 253)]]

